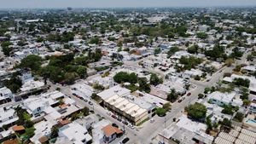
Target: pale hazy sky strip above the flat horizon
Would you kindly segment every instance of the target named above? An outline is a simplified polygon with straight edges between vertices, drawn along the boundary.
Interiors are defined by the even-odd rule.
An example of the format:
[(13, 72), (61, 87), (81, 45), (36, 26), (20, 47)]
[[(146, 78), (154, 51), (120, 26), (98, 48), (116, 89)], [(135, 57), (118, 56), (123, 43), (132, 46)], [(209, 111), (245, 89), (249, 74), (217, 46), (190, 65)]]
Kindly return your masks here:
[(0, 9), (256, 6), (256, 0), (0, 0)]

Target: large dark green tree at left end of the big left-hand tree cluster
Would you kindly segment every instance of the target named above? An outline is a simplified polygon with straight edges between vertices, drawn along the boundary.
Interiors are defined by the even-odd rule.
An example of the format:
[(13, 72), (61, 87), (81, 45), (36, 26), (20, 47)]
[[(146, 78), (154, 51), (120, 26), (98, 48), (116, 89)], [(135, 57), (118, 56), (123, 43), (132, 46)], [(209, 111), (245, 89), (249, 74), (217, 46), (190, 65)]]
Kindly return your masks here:
[(42, 58), (38, 55), (28, 55), (20, 61), (20, 67), (30, 68), (32, 71), (38, 71), (42, 65)]

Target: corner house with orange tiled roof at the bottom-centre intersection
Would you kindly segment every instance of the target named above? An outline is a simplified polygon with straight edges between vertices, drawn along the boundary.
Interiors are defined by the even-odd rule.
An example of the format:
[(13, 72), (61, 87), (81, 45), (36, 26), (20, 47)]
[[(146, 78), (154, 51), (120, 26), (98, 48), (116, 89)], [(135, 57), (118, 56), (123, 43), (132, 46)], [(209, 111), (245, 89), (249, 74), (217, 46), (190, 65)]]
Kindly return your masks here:
[(105, 143), (109, 143), (113, 141), (118, 135), (122, 135), (123, 131), (119, 130), (116, 127), (113, 127), (111, 124), (108, 124), (104, 128), (102, 128), (102, 131), (104, 132), (103, 141)]

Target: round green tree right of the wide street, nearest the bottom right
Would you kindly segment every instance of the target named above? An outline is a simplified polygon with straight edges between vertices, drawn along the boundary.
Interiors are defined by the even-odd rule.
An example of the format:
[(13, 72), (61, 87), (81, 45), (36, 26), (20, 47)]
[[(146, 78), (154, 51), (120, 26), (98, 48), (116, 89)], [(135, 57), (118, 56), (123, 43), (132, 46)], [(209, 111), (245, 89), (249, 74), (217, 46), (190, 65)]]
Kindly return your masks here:
[(189, 105), (189, 107), (186, 108), (188, 112), (189, 118), (195, 119), (195, 120), (201, 120), (206, 118), (207, 116), (207, 107), (205, 107), (201, 103), (195, 103), (194, 105)]

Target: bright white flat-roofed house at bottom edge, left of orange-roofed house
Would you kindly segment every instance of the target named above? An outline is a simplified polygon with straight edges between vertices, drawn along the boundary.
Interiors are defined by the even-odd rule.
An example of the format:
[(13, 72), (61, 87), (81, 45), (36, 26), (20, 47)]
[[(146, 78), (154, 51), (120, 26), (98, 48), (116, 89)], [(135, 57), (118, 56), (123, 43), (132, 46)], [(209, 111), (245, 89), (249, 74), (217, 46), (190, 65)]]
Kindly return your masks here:
[(74, 144), (87, 144), (92, 141), (92, 137), (88, 133), (88, 130), (75, 122), (61, 127), (59, 129), (59, 136), (67, 137), (67, 139), (73, 141)]

